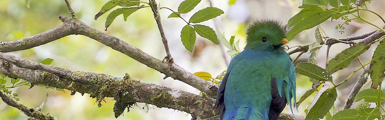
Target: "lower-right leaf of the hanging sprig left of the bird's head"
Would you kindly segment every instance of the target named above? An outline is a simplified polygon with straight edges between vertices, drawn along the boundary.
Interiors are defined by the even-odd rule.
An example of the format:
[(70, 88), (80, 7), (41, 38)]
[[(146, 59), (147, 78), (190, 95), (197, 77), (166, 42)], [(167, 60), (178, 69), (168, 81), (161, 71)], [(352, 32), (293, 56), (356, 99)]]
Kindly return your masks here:
[(213, 28), (210, 28), (204, 25), (192, 25), (192, 26), (194, 26), (194, 30), (196, 33), (198, 33), (204, 38), (211, 40), (211, 42), (215, 44), (219, 44), (218, 37), (216, 36)]

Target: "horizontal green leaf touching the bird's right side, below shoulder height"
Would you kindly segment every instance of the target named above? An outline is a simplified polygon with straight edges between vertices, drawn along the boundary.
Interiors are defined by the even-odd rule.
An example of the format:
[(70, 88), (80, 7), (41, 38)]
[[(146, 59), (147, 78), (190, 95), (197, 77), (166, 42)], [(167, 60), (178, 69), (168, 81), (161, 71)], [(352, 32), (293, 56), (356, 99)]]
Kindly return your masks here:
[(312, 63), (298, 63), (295, 67), (295, 71), (301, 75), (305, 75), (316, 80), (329, 81), (333, 83), (331, 75), (325, 69)]

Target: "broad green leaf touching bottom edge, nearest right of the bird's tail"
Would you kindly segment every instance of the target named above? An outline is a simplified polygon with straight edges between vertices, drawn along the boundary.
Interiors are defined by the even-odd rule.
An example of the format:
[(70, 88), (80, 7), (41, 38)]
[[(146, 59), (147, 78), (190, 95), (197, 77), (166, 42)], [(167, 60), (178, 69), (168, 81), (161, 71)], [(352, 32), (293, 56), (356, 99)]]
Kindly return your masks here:
[(323, 118), (330, 108), (333, 107), (336, 98), (337, 91), (335, 88), (323, 92), (314, 106), (309, 110), (305, 120), (318, 120), (318, 118)]

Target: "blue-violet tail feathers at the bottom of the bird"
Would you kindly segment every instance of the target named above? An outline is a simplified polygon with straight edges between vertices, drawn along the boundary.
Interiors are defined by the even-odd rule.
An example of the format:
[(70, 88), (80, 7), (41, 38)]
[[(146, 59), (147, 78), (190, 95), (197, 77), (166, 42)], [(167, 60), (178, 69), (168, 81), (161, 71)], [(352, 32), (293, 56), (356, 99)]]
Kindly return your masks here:
[(227, 109), (223, 120), (269, 120), (269, 110), (256, 110), (253, 107), (241, 106)]

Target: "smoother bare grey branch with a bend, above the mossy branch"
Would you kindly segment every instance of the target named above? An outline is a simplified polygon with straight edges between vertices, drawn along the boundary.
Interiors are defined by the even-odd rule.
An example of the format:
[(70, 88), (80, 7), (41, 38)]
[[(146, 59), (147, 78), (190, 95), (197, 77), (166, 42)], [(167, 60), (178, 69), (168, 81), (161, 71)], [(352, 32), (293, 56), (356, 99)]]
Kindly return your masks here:
[(164, 73), (167, 77), (172, 77), (187, 83), (192, 87), (197, 88), (201, 92), (205, 92), (211, 98), (216, 97), (218, 85), (197, 77), (196, 75), (179, 67), (179, 65), (175, 63), (164, 63), (161, 60), (148, 55), (139, 48), (129, 45), (117, 37), (113, 37), (106, 33), (100, 32), (99, 30), (86, 25), (80, 20), (70, 19), (62, 15), (59, 16), (59, 19), (64, 23), (57, 28), (20, 40), (0, 43), (0, 52), (25, 50), (52, 42), (67, 35), (80, 34), (97, 40), (98, 42), (103, 43), (104, 45), (107, 45), (114, 50), (124, 53), (125, 55), (137, 60), (138, 62), (141, 62), (148, 67)]

